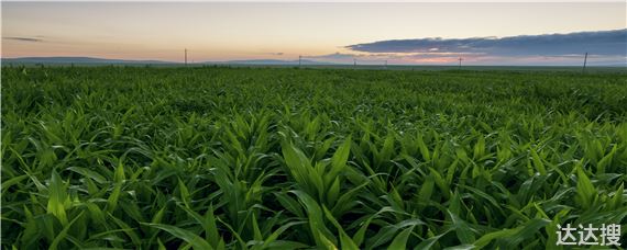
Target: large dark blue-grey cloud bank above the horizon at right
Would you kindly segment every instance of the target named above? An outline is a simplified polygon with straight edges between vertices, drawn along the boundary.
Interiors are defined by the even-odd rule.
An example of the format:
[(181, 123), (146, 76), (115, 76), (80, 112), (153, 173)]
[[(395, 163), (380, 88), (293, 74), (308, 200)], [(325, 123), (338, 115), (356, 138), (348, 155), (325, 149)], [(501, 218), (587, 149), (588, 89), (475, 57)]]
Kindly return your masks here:
[(475, 54), (485, 56), (627, 55), (627, 29), (568, 34), (508, 37), (416, 38), (355, 44), (345, 48), (360, 53)]

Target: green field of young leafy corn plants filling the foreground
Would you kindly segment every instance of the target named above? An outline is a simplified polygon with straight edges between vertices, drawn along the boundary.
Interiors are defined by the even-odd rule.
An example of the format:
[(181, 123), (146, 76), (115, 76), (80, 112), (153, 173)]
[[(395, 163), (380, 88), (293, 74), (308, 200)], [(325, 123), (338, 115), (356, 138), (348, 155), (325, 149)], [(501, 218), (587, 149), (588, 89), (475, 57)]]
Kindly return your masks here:
[(1, 76), (2, 249), (562, 249), (560, 225), (627, 228), (625, 73)]

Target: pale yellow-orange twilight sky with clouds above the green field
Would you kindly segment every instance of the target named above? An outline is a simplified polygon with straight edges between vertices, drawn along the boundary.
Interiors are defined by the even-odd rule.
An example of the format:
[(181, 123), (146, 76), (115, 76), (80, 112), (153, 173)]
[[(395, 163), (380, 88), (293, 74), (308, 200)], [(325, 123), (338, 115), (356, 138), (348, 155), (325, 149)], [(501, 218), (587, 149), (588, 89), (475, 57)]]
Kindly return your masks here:
[(2, 58), (626, 65), (627, 3), (2, 2)]

